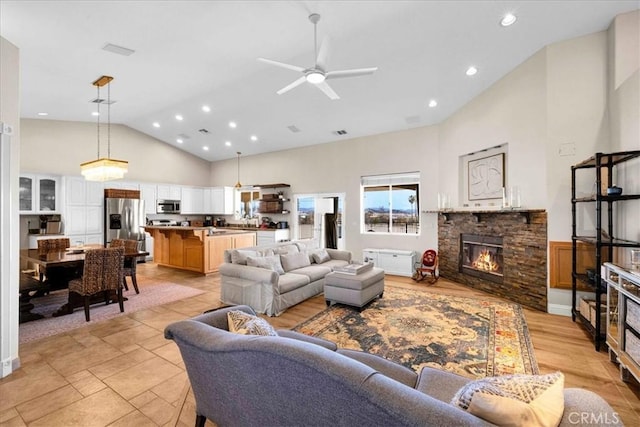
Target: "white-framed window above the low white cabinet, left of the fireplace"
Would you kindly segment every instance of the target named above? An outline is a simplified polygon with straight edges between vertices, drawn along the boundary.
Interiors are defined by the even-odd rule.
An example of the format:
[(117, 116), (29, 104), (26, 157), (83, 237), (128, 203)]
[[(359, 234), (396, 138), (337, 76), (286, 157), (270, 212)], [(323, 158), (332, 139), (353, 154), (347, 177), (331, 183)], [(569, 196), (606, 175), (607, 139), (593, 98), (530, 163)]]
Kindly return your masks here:
[(420, 173), (364, 176), (362, 232), (419, 234)]

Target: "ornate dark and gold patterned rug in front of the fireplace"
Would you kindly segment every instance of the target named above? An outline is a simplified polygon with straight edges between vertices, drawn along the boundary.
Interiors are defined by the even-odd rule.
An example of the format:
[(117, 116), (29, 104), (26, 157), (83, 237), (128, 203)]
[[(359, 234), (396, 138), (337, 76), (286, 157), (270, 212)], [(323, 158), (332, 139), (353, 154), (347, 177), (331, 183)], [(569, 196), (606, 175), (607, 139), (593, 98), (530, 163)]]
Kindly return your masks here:
[(469, 378), (537, 374), (518, 304), (387, 286), (362, 312), (336, 304), (294, 330), (400, 363)]

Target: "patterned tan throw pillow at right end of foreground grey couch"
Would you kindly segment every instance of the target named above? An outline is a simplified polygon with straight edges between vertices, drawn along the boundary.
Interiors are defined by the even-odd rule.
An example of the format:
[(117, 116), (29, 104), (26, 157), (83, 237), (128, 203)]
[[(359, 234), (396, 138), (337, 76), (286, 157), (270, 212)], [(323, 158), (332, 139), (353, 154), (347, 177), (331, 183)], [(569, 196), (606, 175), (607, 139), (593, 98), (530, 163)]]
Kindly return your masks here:
[(564, 412), (564, 375), (505, 375), (471, 381), (451, 404), (500, 426), (557, 426)]

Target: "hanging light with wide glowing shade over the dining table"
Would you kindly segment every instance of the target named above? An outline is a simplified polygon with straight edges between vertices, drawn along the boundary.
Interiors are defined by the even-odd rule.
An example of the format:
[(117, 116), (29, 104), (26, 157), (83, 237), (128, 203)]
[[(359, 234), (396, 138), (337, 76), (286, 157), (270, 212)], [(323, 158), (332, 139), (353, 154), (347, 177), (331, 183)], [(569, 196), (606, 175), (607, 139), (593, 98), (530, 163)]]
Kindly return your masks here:
[[(89, 162), (80, 164), (80, 172), (87, 181), (111, 181), (114, 179), (122, 179), (127, 173), (129, 162), (126, 160), (116, 160), (111, 158), (111, 88), (110, 83), (113, 77), (102, 76), (93, 85), (98, 88), (98, 97), (96, 104), (98, 105), (98, 158)], [(107, 86), (107, 157), (100, 157), (100, 104), (103, 100), (100, 98), (100, 88)]]

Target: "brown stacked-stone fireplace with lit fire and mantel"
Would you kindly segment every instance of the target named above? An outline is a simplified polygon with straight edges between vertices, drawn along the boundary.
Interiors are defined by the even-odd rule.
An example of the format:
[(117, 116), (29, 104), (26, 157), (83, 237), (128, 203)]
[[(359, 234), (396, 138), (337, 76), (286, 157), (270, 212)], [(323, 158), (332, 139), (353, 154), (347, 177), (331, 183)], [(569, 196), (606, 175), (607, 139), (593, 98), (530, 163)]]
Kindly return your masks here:
[(547, 311), (546, 211), (441, 212), (438, 248), (442, 277)]

